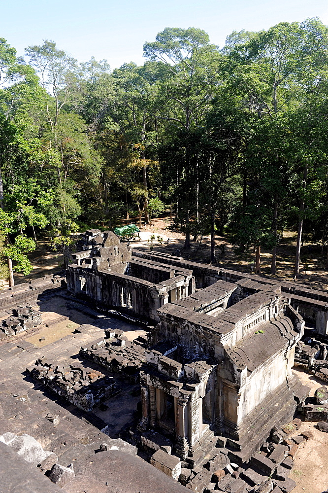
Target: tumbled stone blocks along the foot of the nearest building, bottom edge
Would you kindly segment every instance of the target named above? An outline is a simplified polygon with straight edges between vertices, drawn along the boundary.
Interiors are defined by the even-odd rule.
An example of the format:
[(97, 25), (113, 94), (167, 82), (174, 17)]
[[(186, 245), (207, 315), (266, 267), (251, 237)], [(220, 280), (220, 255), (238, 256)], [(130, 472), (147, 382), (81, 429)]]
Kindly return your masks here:
[(233, 455), (223, 437), (197, 465), (189, 457), (181, 460), (172, 455), (172, 443), (160, 433), (144, 433), (141, 442), (145, 451), (156, 451), (150, 458), (153, 466), (196, 493), (289, 493), (295, 488), (289, 474), (298, 445), (313, 438), (310, 431), (296, 435), (300, 426), (301, 420), (295, 419), (283, 429), (272, 428), (269, 441), (247, 464), (230, 460)]

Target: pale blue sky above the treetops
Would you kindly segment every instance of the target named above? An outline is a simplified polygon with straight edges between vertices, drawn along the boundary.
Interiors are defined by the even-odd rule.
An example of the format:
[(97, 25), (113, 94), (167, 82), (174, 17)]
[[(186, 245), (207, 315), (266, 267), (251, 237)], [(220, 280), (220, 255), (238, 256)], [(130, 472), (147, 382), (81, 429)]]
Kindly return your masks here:
[(143, 43), (165, 27), (201, 28), (222, 47), (234, 29), (317, 16), (328, 24), (327, 0), (0, 0), (0, 37), (19, 55), (51, 39), (79, 61), (105, 58), (114, 69), (142, 64)]

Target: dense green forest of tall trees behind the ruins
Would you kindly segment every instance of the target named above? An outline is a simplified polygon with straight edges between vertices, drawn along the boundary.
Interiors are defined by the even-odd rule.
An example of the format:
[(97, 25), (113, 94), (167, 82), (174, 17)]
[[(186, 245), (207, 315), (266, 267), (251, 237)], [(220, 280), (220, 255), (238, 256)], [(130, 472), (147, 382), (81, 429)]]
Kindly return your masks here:
[[(286, 228), (328, 245), (328, 27), (318, 18), (232, 32), (219, 49), (166, 28), (145, 63), (78, 63), (56, 43), (0, 38), (0, 278), (28, 274), (46, 234), (171, 211), (185, 248), (229, 231), (237, 251), (272, 250)], [(328, 253), (327, 253), (328, 266)]]

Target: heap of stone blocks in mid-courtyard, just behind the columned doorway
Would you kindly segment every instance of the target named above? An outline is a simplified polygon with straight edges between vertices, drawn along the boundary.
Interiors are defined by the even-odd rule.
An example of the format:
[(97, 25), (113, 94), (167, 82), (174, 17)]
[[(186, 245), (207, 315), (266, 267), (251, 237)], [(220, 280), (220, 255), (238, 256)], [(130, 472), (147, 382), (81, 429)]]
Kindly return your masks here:
[(80, 356), (120, 373), (130, 382), (138, 382), (140, 371), (146, 363), (147, 336), (140, 335), (130, 342), (123, 330), (105, 330), (106, 337), (82, 346)]

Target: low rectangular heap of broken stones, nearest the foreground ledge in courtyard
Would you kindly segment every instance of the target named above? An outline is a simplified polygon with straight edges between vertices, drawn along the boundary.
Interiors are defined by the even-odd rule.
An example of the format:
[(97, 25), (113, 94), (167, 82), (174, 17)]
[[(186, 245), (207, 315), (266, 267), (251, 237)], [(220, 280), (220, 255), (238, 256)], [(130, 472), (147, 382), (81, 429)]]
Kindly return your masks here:
[(34, 379), (87, 412), (117, 393), (111, 377), (73, 360), (59, 366), (52, 360), (39, 358), (27, 371)]

